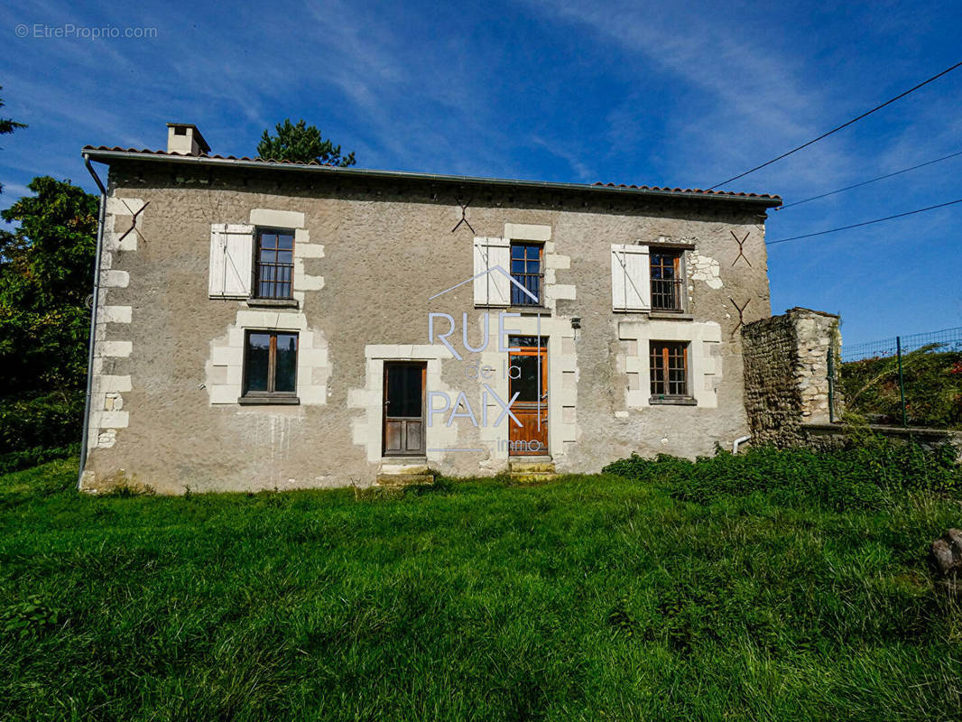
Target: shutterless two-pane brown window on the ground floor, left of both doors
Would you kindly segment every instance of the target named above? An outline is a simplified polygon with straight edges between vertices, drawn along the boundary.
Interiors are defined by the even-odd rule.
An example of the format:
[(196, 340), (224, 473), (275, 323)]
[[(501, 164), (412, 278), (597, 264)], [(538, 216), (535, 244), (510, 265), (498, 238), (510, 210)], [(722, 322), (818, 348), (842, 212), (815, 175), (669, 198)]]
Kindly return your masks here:
[(247, 331), (241, 401), (297, 403), (297, 334)]

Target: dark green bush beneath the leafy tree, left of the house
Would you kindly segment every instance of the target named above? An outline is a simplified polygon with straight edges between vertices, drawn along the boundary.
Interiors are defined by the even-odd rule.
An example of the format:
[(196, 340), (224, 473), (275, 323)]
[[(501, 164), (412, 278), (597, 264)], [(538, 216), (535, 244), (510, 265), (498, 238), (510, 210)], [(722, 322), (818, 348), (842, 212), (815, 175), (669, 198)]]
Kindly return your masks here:
[(83, 420), (83, 391), (0, 399), (0, 453), (76, 444)]

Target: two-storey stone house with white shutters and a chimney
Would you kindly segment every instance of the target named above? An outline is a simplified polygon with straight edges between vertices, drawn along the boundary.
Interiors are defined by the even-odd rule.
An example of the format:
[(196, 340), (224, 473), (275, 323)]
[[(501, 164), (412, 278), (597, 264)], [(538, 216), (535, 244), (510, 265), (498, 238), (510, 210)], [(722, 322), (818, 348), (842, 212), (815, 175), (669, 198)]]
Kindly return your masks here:
[(748, 432), (775, 195), (84, 148), (82, 487), (596, 472)]

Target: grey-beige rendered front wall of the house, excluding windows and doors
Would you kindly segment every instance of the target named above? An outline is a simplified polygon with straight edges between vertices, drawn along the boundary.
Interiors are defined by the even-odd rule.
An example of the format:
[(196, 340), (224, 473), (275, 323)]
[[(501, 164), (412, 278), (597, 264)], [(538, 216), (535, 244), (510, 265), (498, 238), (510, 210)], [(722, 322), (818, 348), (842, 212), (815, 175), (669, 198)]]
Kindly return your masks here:
[[(470, 284), (428, 298), (470, 277), (473, 237), (503, 236), (506, 224), (547, 227), (553, 244), (551, 398), (566, 400), (552, 416), (566, 429), (550, 450), (559, 471), (595, 472), (632, 451), (694, 456), (747, 430), (732, 301), (747, 302), (746, 322), (770, 315), (758, 207), (177, 168), (123, 163), (110, 174), (86, 488), (119, 479), (164, 493), (372, 482), (380, 459), (365, 439), (379, 424), (371, 416), (375, 357), (427, 353), (431, 311), (480, 319)], [(452, 233), (461, 219), (456, 199), (468, 193), (474, 232), (463, 224)], [(276, 311), (302, 314), (302, 333), (312, 334), (311, 402), (299, 406), (213, 402), (212, 386), (232, 373), (218, 357), (253, 309), (208, 297), (211, 225), (248, 222), (254, 209), (303, 214), (317, 246), (302, 259), (301, 309)], [(747, 236), (747, 258), (738, 258), (733, 235)], [(612, 311), (610, 247), (637, 243), (695, 245), (690, 320)], [(652, 333), (697, 344), (699, 405), (648, 406), (642, 398)], [(464, 362), (428, 363), (443, 388), (476, 392)], [(434, 454), (429, 463), (443, 474), (505, 468), (506, 455), (492, 451), (499, 431), (459, 419), (438, 433), (445, 446), (485, 449)]]

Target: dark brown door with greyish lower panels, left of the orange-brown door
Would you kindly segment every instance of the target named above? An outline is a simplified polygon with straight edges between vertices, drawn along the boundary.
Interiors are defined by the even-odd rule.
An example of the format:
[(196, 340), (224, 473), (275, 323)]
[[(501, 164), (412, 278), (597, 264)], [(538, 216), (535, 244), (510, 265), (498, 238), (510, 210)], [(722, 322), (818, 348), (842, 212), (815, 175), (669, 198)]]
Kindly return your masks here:
[(424, 378), (427, 364), (384, 364), (384, 455), (424, 453)]

